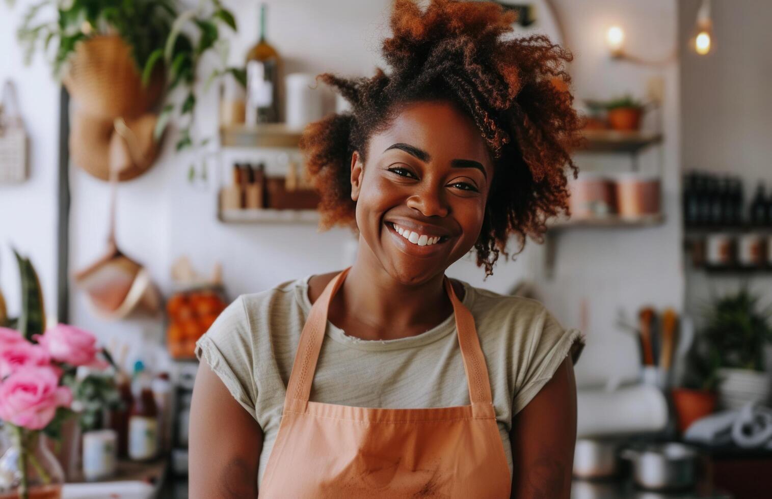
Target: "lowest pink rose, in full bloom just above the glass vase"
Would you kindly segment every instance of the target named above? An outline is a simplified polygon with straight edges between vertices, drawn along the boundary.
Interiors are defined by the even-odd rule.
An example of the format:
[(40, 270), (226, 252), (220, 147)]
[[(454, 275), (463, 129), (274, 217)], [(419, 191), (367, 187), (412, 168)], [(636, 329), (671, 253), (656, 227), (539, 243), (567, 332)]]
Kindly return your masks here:
[(28, 430), (42, 430), (57, 407), (72, 402), (72, 391), (59, 386), (59, 374), (51, 366), (25, 366), (0, 383), (0, 419)]

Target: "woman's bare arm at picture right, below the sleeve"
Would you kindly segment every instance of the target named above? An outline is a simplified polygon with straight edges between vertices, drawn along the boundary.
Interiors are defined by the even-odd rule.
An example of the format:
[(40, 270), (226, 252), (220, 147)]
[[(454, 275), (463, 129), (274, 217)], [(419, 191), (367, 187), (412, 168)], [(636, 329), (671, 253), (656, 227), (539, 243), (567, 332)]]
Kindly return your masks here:
[(567, 357), (512, 422), (511, 497), (571, 497), (576, 438), (577, 389), (574, 364)]

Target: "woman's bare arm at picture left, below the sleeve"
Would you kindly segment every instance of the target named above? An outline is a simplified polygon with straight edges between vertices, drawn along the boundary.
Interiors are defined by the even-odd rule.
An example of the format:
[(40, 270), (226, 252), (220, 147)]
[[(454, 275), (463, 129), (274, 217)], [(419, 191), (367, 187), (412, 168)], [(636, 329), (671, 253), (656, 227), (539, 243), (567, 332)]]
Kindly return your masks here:
[(201, 362), (195, 378), (189, 430), (190, 497), (257, 497), (262, 430)]

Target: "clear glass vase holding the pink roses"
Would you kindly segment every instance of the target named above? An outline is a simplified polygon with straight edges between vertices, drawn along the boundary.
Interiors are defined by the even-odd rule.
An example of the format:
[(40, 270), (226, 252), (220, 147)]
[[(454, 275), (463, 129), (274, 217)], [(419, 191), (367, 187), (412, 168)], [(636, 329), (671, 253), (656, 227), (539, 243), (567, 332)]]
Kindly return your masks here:
[(45, 435), (8, 424), (3, 426), (3, 433), (0, 499), (62, 497), (64, 472), (46, 445)]

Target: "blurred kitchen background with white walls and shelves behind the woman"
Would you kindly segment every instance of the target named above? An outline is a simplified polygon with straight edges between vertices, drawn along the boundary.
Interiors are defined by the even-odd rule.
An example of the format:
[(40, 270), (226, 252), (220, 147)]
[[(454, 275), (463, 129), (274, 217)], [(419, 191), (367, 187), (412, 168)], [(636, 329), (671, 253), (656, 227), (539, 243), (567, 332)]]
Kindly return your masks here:
[[(56, 3), (34, 21), (36, 2), (0, 6), (0, 83), (12, 84), (0, 112), (0, 290), (8, 317), (22, 314), (15, 248), (37, 271), (49, 324), (93, 332), (120, 371), (124, 404), (96, 427), (70, 425), (80, 433), (71, 455), (59, 451), (63, 497), (186, 497), (195, 339), (236, 296), (356, 254), (350, 231), (317, 231), (296, 143), (303, 124), (345, 109), (313, 76), (385, 67), (390, 2), (203, 2), (181, 23), (191, 43), (130, 39), (142, 46), (140, 90), (125, 43), (93, 37), (106, 26), (78, 17), (80, 0), (64, 18), (61, 40), (76, 45), (63, 89), (52, 76), (60, 38), (46, 51), (39, 28)], [(472, 255), (448, 274), (537, 298), (587, 335), (574, 497), (764, 497), (772, 3), (499, 3), (520, 13), (518, 35), (546, 33), (574, 53), (571, 89), (587, 116), (574, 216), (486, 280)], [(124, 32), (143, 33), (141, 15), (127, 19), (136, 29)], [(159, 96), (164, 84), (174, 89)], [(131, 460), (133, 416), (157, 418), (158, 436)], [(88, 464), (86, 430), (102, 430)]]

